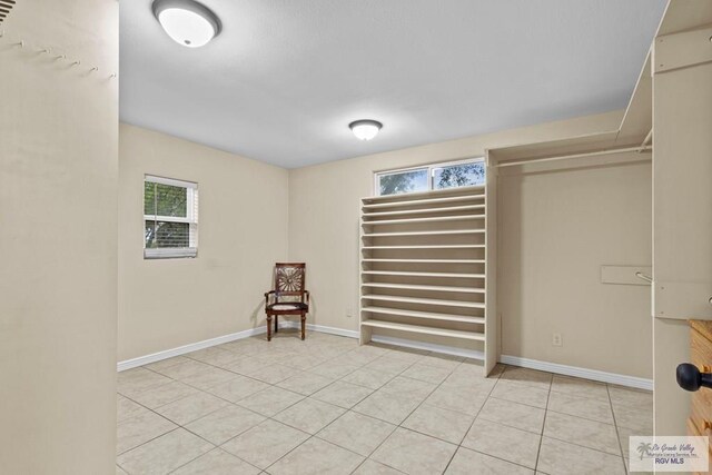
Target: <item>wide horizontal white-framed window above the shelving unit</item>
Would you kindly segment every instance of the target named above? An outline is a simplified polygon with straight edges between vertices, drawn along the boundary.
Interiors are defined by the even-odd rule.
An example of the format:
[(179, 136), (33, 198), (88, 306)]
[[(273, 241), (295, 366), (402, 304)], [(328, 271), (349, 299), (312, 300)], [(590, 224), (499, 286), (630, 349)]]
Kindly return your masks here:
[(484, 158), (434, 164), (376, 174), (376, 196), (485, 184)]

